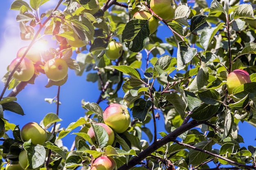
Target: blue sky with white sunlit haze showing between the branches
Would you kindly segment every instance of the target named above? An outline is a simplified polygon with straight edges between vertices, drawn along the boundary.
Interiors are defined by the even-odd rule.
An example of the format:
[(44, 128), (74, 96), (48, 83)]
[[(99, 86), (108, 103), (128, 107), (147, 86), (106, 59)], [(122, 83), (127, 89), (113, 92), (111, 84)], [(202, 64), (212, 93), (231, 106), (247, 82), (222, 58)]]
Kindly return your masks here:
[[(7, 66), (16, 57), (18, 49), (22, 46), (29, 44), (29, 42), (20, 40), (20, 29), (18, 22), (16, 22), (16, 15), (18, 11), (9, 10), (13, 0), (3, 0), (1, 2), (2, 8), (0, 10), (0, 77), (7, 72)], [(57, 3), (57, 0), (50, 0), (40, 9), (41, 12), (46, 9), (53, 8)], [(164, 37), (166, 35), (166, 28), (164, 26), (159, 27), (158, 35)], [(165, 33), (161, 35), (160, 33)], [(75, 57), (75, 56), (74, 56)], [(56, 105), (48, 104), (44, 101), (45, 98), (53, 98), (57, 94), (57, 86), (45, 88), (47, 84), (47, 77), (40, 75), (36, 78), (35, 84), (29, 84), (21, 91), (18, 96), (18, 103), (22, 106), (25, 116), (17, 115), (8, 111), (4, 112), (4, 118), (8, 119), (10, 123), (19, 124), (22, 127), (24, 124), (30, 121), (40, 122), (47, 113), (56, 113)], [(0, 82), (0, 91), (4, 84)], [(8, 91), (4, 96), (8, 95)], [(96, 102), (100, 95), (97, 84), (86, 82), (86, 74), (83, 76), (76, 76), (74, 70), (69, 70), (67, 82), (61, 86), (60, 101), (61, 106), (59, 110), (59, 117), (63, 119), (61, 121), (61, 127), (65, 128), (71, 122), (76, 121), (79, 117), (84, 116), (85, 110), (81, 107), (81, 100), (86, 102)], [(120, 95), (120, 97), (122, 97)], [(106, 108), (106, 102), (101, 103), (101, 107)], [(165, 131), (163, 124), (163, 115), (161, 120), (157, 121), (157, 132)], [(239, 134), (244, 137), (245, 144), (256, 146), (255, 137), (251, 129), (253, 126), (245, 123), (239, 124)], [(153, 127), (149, 124), (148, 127)], [(63, 139), (63, 143), (67, 148), (70, 148), (72, 141), (74, 141), (74, 135), (69, 135)], [(146, 137), (144, 137), (147, 139)]]

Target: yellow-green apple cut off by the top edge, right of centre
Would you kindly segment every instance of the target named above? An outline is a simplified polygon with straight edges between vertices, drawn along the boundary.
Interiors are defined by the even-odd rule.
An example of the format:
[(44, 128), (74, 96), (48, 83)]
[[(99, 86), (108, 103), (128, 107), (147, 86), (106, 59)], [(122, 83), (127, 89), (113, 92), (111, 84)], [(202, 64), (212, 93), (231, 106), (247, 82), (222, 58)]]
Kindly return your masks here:
[(175, 0), (151, 0), (150, 8), (163, 20), (172, 20), (177, 8)]

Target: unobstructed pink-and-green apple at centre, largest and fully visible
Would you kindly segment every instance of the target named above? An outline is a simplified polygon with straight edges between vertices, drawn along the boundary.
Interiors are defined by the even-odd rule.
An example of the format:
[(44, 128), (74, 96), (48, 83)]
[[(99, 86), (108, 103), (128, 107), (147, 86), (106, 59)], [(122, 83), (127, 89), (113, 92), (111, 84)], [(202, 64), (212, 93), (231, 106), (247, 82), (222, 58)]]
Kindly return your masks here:
[(115, 132), (122, 133), (130, 125), (130, 113), (121, 104), (110, 104), (103, 112), (103, 120)]

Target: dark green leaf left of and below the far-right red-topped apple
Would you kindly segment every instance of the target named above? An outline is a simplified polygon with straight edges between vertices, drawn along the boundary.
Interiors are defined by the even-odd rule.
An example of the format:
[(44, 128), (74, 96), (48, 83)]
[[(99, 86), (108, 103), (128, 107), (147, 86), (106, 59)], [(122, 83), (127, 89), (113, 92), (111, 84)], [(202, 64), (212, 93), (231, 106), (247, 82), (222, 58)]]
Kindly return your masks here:
[(198, 93), (198, 97), (206, 104), (219, 105), (220, 93), (215, 90), (200, 92)]

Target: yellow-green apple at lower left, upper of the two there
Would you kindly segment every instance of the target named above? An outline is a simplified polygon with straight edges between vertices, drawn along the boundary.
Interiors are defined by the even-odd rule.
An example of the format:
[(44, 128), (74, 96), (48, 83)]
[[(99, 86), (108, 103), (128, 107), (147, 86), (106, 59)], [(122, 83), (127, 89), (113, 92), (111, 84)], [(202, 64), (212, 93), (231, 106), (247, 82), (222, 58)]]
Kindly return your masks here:
[(32, 144), (42, 145), (47, 139), (47, 133), (38, 123), (29, 122), (20, 130), (20, 137), (22, 141), (31, 139)]

